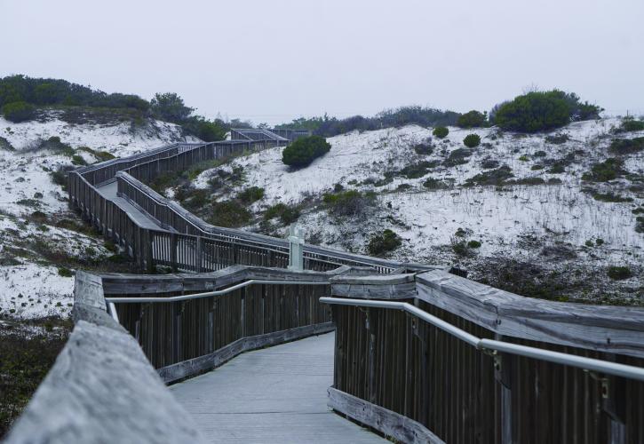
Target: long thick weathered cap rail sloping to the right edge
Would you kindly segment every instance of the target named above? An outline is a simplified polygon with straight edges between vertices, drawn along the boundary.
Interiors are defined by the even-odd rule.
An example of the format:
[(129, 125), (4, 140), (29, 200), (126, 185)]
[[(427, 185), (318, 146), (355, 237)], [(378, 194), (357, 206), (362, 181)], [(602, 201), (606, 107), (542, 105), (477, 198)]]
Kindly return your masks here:
[(417, 297), (507, 337), (644, 357), (644, 308), (521, 297), (441, 271), (417, 274)]

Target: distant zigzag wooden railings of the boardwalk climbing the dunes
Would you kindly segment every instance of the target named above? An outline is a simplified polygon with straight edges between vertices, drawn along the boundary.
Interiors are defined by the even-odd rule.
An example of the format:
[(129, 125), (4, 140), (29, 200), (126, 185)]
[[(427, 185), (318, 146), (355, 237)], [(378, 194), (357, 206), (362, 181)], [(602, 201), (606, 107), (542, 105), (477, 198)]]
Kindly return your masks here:
[[(152, 150), (147, 155), (84, 167), (69, 174), (70, 204), (81, 210), (105, 236), (122, 245), (141, 268), (152, 270), (156, 265), (163, 265), (201, 273), (235, 264), (287, 266), (288, 242), (285, 240), (206, 224), (140, 181), (153, 180), (167, 171), (184, 170), (204, 160), (272, 147), (275, 143), (282, 142), (177, 144)], [(141, 226), (101, 194), (97, 186), (109, 181), (116, 181), (118, 195), (149, 214), (161, 228)], [(432, 268), (305, 245), (306, 269), (323, 271), (341, 265), (374, 266), (381, 273), (403, 266)]]

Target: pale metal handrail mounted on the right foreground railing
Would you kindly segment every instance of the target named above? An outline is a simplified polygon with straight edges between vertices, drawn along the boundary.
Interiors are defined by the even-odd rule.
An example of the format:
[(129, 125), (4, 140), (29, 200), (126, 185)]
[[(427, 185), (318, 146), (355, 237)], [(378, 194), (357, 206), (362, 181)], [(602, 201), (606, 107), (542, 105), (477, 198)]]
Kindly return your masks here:
[(404, 312), (415, 315), (418, 319), (432, 324), (434, 327), (437, 327), (445, 331), (446, 333), (449, 333), (450, 335), (461, 339), (465, 343), (472, 345), (473, 347), (483, 352), (488, 351), (494, 354), (498, 352), (516, 354), (527, 358), (550, 361), (558, 364), (576, 367), (578, 369), (597, 371), (600, 373), (606, 373), (608, 375), (614, 375), (616, 377), (626, 377), (644, 382), (644, 369), (640, 367), (619, 364), (617, 362), (601, 361), (593, 358), (585, 358), (583, 356), (577, 356), (576, 354), (553, 352), (552, 350), (545, 350), (528, 345), (518, 345), (505, 341), (475, 337), (465, 330), (459, 329), (457, 326), (450, 324), (447, 321), (442, 321), (436, 316), (433, 316), (430, 313), (426, 313), (416, 306), (408, 304), (406, 302), (344, 299), (339, 297), (320, 297), (320, 302), (322, 302), (322, 304), (331, 305), (355, 305), (402, 310)]

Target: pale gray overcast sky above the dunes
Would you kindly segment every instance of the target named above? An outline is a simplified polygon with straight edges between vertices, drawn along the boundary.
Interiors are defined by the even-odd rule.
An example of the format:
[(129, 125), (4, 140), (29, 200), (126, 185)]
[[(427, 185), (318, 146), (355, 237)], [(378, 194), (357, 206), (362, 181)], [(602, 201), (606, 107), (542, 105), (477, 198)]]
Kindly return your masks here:
[(642, 20), (642, 0), (0, 0), (0, 75), (255, 123), (489, 110), (530, 84), (644, 113)]

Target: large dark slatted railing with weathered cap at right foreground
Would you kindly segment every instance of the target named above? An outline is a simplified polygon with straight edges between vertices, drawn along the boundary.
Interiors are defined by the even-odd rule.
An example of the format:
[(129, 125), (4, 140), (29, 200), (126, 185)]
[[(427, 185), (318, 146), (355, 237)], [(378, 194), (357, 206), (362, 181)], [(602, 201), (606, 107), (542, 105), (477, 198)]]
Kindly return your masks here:
[(405, 442), (644, 441), (644, 309), (520, 297), (438, 270), (331, 281), (330, 406), (347, 416)]

